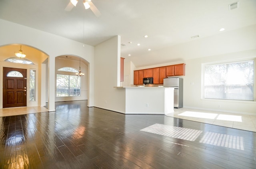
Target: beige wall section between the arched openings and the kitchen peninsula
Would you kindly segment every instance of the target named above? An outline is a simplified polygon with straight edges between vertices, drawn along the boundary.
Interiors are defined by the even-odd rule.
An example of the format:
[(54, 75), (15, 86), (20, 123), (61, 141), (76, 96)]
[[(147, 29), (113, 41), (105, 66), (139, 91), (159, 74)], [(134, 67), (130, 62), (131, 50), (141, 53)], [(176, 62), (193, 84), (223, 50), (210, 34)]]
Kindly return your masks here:
[(120, 36), (97, 45), (94, 54), (94, 106), (124, 112), (125, 90), (114, 88), (120, 83)]

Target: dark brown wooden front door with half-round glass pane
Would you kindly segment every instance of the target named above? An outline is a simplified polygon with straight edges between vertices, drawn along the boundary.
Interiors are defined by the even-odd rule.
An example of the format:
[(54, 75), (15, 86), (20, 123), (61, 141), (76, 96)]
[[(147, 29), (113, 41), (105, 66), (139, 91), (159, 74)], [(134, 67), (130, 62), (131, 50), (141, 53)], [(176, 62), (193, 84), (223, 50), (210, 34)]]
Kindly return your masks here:
[(27, 106), (27, 69), (4, 67), (3, 108)]

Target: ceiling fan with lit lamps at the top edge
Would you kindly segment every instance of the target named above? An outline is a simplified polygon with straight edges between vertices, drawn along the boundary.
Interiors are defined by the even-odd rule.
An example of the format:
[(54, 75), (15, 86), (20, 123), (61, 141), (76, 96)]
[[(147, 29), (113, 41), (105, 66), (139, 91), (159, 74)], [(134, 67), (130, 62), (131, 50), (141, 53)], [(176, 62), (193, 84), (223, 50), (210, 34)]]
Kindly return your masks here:
[[(69, 4), (65, 8), (65, 11), (71, 11), (74, 8), (74, 6), (76, 6), (77, 2), (78, 0), (70, 0)], [(101, 15), (98, 8), (92, 3), (92, 0), (84, 0), (83, 4), (86, 10), (90, 8), (97, 17)]]

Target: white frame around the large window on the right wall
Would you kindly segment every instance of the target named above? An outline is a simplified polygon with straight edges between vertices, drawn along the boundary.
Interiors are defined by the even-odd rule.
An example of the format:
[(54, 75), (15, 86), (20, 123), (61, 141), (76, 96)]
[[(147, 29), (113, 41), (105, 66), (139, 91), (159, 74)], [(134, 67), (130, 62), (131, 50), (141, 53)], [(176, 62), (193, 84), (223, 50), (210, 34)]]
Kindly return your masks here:
[[(225, 63), (239, 63), (245, 61), (254, 61), (254, 100), (231, 100), (231, 99), (220, 99), (220, 98), (205, 98), (205, 66), (206, 65), (220, 65)], [(248, 103), (248, 102), (256, 102), (256, 58), (244, 58), (244, 59), (233, 59), (233, 60), (224, 60), (224, 61), (216, 61), (216, 62), (208, 62), (202, 63), (201, 69), (201, 100), (210, 100), (210, 101), (222, 101), (222, 102), (240, 102), (240, 103)]]

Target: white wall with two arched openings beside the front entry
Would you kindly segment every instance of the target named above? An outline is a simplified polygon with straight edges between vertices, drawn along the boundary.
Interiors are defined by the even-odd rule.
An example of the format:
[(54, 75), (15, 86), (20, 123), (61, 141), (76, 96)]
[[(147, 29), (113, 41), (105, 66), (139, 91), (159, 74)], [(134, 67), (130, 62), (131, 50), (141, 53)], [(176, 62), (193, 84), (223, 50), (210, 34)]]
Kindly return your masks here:
[[(46, 53), (48, 60), (48, 107), (49, 111), (55, 110), (55, 57), (60, 55), (76, 55), (88, 61), (89, 72), (94, 75), (94, 47), (66, 39), (57, 35), (39, 31), (5, 20), (0, 20), (0, 47), (8, 44), (22, 44), (34, 47)], [(88, 106), (94, 105), (94, 77), (89, 76)]]

